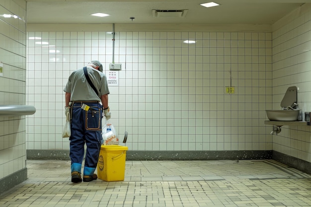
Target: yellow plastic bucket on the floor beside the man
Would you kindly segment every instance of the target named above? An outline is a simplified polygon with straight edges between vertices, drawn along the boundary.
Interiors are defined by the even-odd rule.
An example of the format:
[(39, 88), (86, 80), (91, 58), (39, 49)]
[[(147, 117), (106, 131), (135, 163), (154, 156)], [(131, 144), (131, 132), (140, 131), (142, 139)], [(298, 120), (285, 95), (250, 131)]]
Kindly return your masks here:
[(104, 181), (123, 181), (127, 146), (101, 145), (97, 176)]

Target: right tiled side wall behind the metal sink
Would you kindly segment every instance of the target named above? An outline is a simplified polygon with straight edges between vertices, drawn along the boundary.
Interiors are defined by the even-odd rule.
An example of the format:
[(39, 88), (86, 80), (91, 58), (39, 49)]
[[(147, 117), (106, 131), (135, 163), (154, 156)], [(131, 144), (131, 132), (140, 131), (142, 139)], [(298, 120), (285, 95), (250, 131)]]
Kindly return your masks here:
[[(297, 99), (303, 112), (311, 112), (311, 6), (305, 4), (273, 25), (273, 109), (290, 86), (299, 88)], [(283, 126), (273, 136), (273, 150), (311, 162), (311, 127)]]

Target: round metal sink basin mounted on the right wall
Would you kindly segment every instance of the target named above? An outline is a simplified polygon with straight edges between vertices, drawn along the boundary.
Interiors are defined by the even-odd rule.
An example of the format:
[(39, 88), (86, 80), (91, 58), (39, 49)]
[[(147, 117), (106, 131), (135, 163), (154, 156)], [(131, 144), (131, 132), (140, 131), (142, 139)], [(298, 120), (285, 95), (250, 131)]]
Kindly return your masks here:
[(270, 121), (297, 121), (300, 110), (266, 110)]

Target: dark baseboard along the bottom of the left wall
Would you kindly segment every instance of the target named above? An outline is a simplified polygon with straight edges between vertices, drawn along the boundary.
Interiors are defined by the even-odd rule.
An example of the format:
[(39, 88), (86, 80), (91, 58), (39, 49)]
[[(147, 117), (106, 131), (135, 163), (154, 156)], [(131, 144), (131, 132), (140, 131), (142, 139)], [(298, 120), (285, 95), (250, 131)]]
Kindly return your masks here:
[(0, 179), (0, 194), (27, 180), (27, 168)]

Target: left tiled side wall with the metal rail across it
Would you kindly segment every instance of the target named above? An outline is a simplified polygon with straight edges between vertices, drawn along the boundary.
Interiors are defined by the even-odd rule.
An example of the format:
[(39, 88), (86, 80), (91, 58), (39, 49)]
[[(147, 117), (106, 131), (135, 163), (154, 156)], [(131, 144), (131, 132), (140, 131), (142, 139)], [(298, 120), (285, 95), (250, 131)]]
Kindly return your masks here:
[[(25, 105), (26, 1), (2, 0), (0, 13), (0, 106)], [(0, 193), (27, 179), (25, 123), (25, 116), (0, 116)]]

